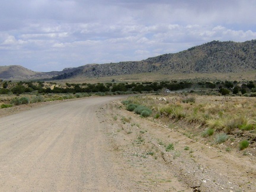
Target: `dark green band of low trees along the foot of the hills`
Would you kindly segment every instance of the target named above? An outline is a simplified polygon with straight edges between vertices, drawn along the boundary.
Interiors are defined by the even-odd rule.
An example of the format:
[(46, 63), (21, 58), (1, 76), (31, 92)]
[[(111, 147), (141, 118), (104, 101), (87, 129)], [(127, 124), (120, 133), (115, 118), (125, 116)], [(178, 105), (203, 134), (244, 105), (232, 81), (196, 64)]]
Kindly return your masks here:
[[(46, 86), (46, 85), (51, 85)], [(161, 81), (161, 82), (107, 82), (97, 84), (69, 84), (59, 86), (55, 82), (17, 82), (1, 81), (0, 94), (23, 94), (25, 92), (38, 92), (39, 94), (47, 93), (78, 93), (78, 92), (159, 92), (163, 89), (177, 91), (182, 89), (216, 89), (222, 95), (226, 94), (245, 94), (248, 92), (256, 92), (255, 82), (249, 81), (239, 83), (237, 81), (225, 82), (188, 82), (188, 81)]]

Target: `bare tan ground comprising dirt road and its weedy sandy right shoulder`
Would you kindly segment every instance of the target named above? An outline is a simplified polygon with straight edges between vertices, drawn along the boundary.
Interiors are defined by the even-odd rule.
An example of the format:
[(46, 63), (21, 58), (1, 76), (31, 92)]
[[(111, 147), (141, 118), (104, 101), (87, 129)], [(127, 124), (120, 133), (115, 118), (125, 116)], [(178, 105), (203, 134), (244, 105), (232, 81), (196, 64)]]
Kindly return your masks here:
[(0, 191), (256, 191), (255, 158), (123, 110), (123, 97), (0, 110)]

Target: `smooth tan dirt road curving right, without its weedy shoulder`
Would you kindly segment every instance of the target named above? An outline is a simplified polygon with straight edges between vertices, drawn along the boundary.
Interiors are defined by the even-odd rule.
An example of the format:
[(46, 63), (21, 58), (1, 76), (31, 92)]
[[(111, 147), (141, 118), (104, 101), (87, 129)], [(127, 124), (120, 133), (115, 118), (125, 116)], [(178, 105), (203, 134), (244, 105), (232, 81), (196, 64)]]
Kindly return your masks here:
[(86, 98), (1, 117), (0, 191), (128, 190), (95, 113), (117, 98)]

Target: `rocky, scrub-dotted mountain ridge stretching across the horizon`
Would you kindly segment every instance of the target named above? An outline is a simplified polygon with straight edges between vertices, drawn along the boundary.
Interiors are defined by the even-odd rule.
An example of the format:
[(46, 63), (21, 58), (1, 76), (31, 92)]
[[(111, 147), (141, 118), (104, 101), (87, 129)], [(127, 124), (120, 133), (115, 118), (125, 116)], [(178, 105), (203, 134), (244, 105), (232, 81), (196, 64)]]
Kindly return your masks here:
[(229, 73), (256, 69), (256, 40), (236, 43), (211, 41), (179, 53), (141, 61), (88, 64), (60, 72), (33, 72), (22, 66), (0, 66), (0, 79), (67, 79), (103, 77), (134, 73)]

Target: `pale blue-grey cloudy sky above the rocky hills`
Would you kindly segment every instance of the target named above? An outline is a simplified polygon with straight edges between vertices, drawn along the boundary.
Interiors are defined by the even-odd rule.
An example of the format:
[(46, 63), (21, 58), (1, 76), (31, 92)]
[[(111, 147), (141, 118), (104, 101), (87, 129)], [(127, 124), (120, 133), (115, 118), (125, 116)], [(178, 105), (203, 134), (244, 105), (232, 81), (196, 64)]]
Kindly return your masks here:
[(0, 2), (0, 66), (37, 72), (256, 39), (255, 0)]

